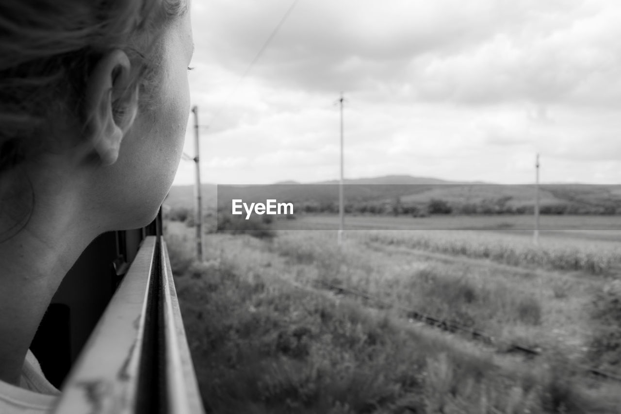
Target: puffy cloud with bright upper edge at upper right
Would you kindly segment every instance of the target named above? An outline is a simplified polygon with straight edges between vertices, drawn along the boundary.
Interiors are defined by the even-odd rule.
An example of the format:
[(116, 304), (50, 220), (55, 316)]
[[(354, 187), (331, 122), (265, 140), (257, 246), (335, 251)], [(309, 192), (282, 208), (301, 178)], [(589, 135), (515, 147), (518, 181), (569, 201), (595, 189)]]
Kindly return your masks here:
[[(466, 104), (619, 106), (621, 50), (611, 40), (621, 35), (620, 18), (618, 9), (602, 9), (542, 37), (497, 34), (471, 49), (432, 57), (416, 73), (419, 96)], [(443, 93), (429, 93), (427, 86), (438, 84)]]

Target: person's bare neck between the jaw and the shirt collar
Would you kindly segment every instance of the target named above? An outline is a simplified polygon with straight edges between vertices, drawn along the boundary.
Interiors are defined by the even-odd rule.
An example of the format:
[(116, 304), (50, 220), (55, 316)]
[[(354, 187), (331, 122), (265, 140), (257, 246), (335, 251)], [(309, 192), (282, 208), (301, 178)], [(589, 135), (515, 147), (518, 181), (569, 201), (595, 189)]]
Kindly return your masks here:
[(37, 198), (24, 228), (0, 241), (0, 380), (11, 384), (19, 385), (25, 354), (60, 282), (98, 234), (80, 220), (77, 200), (61, 195)]

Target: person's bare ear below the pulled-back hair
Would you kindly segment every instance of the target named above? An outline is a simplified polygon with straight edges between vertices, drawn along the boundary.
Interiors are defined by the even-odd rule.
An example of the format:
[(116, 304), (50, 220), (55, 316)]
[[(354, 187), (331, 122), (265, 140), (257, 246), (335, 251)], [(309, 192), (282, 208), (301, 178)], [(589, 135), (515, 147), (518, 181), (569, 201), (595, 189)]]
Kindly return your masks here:
[(122, 50), (104, 55), (88, 79), (86, 139), (104, 165), (119, 158), (120, 143), (138, 111), (138, 88), (129, 90), (131, 81), (131, 63)]

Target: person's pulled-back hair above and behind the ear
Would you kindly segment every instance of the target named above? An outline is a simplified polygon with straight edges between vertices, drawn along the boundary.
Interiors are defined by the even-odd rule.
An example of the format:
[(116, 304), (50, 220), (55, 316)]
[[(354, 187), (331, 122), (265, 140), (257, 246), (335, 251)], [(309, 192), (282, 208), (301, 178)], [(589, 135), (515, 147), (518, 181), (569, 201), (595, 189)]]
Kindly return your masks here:
[(106, 52), (127, 53), (134, 80), (127, 90), (138, 86), (148, 99), (152, 45), (186, 7), (184, 0), (2, 0), (0, 173), (67, 127), (57, 124), (84, 128), (86, 81)]

